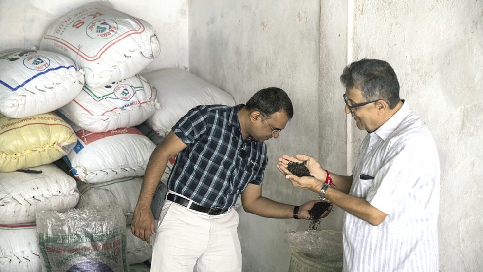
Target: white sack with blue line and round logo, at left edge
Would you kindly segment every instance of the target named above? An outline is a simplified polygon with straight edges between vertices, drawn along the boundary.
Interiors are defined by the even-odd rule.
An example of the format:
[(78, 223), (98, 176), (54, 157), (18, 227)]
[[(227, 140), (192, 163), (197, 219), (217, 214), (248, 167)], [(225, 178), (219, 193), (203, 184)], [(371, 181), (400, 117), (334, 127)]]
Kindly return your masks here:
[(83, 85), (84, 71), (64, 55), (18, 48), (0, 52), (0, 112), (7, 117), (54, 111)]

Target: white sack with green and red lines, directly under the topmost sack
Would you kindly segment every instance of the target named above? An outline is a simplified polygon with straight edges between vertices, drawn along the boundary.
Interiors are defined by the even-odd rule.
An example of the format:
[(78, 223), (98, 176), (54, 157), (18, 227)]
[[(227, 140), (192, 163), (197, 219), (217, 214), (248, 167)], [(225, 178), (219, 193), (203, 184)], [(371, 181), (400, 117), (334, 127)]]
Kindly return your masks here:
[(137, 126), (159, 109), (156, 91), (140, 75), (104, 87), (84, 86), (82, 92), (59, 111), (91, 132)]

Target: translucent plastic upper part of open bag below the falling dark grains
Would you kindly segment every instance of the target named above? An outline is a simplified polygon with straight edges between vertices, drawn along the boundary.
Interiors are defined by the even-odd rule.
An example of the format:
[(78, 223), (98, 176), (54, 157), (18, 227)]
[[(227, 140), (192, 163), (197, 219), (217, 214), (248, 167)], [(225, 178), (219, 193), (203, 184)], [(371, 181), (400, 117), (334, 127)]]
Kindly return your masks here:
[(333, 230), (285, 232), (285, 241), (292, 252), (304, 253), (311, 258), (342, 258), (342, 232)]

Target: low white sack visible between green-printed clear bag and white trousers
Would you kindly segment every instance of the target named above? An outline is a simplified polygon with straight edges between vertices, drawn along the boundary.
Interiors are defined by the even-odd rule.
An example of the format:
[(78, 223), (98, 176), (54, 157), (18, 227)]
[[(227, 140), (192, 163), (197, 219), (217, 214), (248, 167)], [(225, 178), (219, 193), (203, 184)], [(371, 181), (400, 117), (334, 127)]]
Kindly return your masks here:
[[(126, 258), (128, 264), (142, 263), (152, 256), (152, 246), (134, 236), (131, 225), (126, 226)], [(130, 269), (131, 270), (131, 269)]]

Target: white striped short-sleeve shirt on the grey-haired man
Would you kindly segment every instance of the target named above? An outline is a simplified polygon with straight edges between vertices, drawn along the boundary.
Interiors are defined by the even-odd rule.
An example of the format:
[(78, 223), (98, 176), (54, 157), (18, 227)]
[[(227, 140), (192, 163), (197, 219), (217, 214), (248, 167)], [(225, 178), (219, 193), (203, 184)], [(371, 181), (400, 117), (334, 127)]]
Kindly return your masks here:
[(439, 156), (407, 102), (364, 138), (349, 194), (388, 215), (372, 226), (344, 212), (344, 271), (439, 271)]

